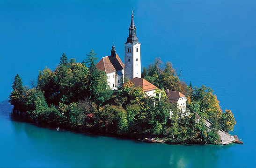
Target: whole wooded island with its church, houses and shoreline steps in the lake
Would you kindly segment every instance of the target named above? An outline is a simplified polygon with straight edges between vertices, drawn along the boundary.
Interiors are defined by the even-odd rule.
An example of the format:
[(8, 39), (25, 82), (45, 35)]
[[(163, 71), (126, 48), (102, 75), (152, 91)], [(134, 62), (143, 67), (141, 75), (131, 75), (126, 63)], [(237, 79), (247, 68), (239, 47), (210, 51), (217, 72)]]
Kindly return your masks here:
[[(222, 111), (210, 87), (179, 79), (161, 58), (143, 67), (132, 12), (124, 64), (113, 43), (97, 61), (91, 50), (81, 63), (63, 53), (55, 70), (40, 71), (23, 86), (17, 74), (9, 96), (13, 115), (49, 128), (144, 139), (170, 144), (228, 144), (237, 136), (234, 114)], [(146, 139), (147, 140), (147, 139)]]

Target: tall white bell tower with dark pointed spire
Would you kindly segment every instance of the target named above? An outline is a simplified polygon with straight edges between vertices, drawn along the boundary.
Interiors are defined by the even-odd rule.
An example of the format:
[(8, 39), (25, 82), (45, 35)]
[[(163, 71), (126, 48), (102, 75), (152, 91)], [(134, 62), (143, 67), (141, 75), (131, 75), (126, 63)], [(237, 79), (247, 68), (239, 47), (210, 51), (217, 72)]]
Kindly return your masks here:
[(132, 80), (135, 77), (141, 78), (140, 43), (136, 35), (136, 27), (133, 20), (129, 27), (129, 36), (124, 43), (124, 77)]

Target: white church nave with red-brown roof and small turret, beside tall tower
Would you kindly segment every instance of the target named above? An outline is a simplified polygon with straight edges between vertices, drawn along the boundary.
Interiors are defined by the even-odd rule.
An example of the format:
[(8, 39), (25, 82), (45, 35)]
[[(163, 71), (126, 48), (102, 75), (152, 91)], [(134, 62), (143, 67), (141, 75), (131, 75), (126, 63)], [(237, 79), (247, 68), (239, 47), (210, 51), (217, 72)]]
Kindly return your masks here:
[(111, 55), (102, 57), (96, 64), (96, 68), (104, 71), (108, 77), (107, 81), (113, 90), (123, 85), (124, 79), (124, 64), (116, 54), (115, 45), (113, 44)]

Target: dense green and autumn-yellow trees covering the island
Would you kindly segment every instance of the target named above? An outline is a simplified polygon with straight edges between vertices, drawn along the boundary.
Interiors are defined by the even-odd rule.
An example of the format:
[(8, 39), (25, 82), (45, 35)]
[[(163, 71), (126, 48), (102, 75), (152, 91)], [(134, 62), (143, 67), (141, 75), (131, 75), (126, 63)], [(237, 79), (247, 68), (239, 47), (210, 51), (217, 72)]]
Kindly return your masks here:
[[(106, 74), (95, 67), (95, 55), (91, 50), (87, 59), (77, 63), (75, 59), (68, 61), (63, 53), (54, 71), (47, 67), (40, 71), (36, 88), (23, 87), (17, 74), (10, 95), (14, 109), (28, 121), (50, 127), (137, 138), (153, 136), (169, 143), (216, 143), (219, 128), (233, 131), (234, 115), (230, 110), (222, 113), (212, 89), (193, 88), (191, 82), (187, 86), (170, 62), (163, 66), (156, 59), (143, 68), (142, 76), (160, 88), (154, 99), (131, 81), (113, 94)], [(168, 101), (165, 89), (186, 95), (188, 116)], [(200, 119), (196, 121), (197, 116)], [(210, 129), (205, 119), (212, 122)]]

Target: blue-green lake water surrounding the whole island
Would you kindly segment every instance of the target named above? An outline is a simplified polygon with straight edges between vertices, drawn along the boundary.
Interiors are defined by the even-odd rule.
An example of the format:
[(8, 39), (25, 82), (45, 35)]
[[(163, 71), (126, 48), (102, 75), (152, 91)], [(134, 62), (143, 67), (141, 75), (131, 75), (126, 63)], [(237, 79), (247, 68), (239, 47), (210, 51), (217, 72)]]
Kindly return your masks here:
[[(214, 90), (243, 145), (146, 144), (13, 121), (6, 101), (63, 52), (81, 62), (115, 42), (124, 60), (131, 9), (142, 66), (161, 57), (181, 78)], [(256, 1), (0, 1), (0, 167), (256, 167)]]

